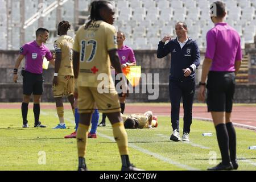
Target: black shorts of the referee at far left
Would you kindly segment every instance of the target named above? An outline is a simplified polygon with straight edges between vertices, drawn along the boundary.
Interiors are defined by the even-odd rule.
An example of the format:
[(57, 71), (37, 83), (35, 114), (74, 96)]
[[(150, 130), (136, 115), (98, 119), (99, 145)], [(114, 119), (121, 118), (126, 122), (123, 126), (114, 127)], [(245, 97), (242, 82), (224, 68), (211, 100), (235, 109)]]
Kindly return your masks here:
[(30, 73), (27, 71), (23, 72), (23, 94), (30, 96), (31, 93), (34, 95), (43, 94), (43, 75)]

